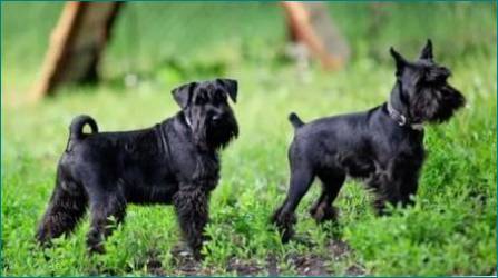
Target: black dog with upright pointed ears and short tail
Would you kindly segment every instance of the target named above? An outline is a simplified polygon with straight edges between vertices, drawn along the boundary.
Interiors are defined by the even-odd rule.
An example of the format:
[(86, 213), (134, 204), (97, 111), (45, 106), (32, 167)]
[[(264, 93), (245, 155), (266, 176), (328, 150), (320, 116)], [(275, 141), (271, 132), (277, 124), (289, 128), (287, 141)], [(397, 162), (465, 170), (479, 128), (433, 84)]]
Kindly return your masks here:
[(323, 185), (310, 210), (318, 222), (335, 218), (332, 202), (346, 176), (363, 179), (375, 192), (380, 214), (385, 202), (407, 205), (417, 192), (424, 157), (422, 123), (447, 121), (465, 98), (447, 83), (449, 69), (433, 61), (430, 40), (414, 62), (392, 48), (390, 52), (397, 71), (387, 103), (306, 125), (291, 113), (295, 136), (289, 149), (290, 189), (272, 218), (283, 241), (292, 237), (294, 210), (315, 177)]

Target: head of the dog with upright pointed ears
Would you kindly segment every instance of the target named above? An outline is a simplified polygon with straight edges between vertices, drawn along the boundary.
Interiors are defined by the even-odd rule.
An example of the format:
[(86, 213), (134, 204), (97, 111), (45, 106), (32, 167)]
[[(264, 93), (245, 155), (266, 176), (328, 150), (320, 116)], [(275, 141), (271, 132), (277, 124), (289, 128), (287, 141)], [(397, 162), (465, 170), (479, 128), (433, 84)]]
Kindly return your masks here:
[(391, 93), (393, 107), (412, 122), (443, 122), (465, 105), (463, 96), (448, 83), (451, 71), (433, 60), (432, 42), (427, 41), (420, 57), (408, 61), (392, 47), (397, 82)]

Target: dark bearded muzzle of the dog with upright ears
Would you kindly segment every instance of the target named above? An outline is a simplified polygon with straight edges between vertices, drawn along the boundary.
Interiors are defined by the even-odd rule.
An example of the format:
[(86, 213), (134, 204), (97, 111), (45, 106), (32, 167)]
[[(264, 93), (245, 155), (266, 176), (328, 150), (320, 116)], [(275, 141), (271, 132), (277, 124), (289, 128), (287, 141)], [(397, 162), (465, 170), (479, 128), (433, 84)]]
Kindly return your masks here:
[(448, 83), (423, 87), (410, 103), (413, 121), (441, 123), (449, 120), (465, 105), (463, 96)]

